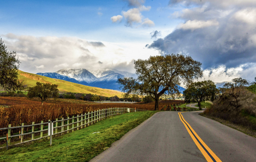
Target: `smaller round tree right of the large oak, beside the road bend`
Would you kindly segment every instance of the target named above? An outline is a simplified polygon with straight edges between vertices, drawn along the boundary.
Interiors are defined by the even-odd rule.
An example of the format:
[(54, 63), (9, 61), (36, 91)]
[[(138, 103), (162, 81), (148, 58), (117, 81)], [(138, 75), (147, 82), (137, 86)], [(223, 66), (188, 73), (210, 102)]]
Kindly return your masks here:
[(201, 103), (205, 100), (212, 100), (217, 95), (218, 89), (211, 80), (191, 83), (188, 88), (183, 91), (185, 102), (197, 102), (199, 109), (202, 109)]

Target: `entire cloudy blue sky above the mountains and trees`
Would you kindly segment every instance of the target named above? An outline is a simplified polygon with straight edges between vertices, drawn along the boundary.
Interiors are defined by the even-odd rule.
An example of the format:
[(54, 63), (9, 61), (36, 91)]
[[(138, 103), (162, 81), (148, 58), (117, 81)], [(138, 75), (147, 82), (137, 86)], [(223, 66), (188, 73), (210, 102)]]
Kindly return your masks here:
[(3, 1), (0, 37), (20, 70), (116, 69), (183, 54), (214, 82), (256, 76), (255, 0)]

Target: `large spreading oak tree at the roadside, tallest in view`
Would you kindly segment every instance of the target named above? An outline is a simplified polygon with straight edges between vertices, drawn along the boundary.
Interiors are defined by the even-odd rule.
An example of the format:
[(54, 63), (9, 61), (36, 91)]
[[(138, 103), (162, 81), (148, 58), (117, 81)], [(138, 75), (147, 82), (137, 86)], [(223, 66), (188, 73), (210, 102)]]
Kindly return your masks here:
[(155, 110), (158, 110), (160, 96), (179, 94), (177, 85), (191, 83), (202, 76), (201, 65), (190, 56), (179, 54), (150, 56), (134, 61), (137, 79), (120, 78), (117, 82), (126, 97), (131, 94), (151, 96), (155, 100)]

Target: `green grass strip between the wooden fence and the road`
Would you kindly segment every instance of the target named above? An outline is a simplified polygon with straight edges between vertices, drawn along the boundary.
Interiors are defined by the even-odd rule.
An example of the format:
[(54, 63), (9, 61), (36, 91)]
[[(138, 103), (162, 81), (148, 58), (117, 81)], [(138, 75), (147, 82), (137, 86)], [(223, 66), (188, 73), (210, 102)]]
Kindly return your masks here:
[[(85, 129), (31, 144), (0, 150), (0, 161), (89, 161), (138, 126), (156, 111), (127, 113), (108, 118)], [(92, 134), (93, 132), (100, 132)]]

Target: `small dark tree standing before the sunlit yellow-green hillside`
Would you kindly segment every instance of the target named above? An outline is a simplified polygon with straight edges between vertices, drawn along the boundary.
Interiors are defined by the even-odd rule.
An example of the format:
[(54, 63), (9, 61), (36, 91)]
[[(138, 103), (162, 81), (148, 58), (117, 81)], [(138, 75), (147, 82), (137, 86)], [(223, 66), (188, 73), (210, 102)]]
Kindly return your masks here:
[(58, 98), (59, 90), (57, 87), (58, 86), (56, 84), (36, 82), (36, 86), (29, 87), (27, 97), (39, 97), (43, 105), (44, 101), (48, 98)]

